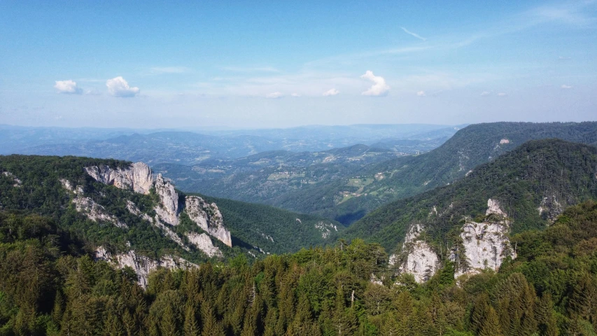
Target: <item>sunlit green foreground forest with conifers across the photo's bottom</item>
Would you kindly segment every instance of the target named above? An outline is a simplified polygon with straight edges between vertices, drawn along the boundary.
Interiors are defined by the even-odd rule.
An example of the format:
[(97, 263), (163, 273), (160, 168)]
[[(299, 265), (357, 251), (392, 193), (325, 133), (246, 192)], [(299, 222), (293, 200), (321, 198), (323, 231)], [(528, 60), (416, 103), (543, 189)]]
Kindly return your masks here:
[(0, 335), (595, 335), (597, 204), (512, 241), (518, 258), (462, 283), (448, 261), (423, 285), (395, 277), (383, 248), (356, 239), (159, 269), (143, 290), (49, 218), (3, 211)]

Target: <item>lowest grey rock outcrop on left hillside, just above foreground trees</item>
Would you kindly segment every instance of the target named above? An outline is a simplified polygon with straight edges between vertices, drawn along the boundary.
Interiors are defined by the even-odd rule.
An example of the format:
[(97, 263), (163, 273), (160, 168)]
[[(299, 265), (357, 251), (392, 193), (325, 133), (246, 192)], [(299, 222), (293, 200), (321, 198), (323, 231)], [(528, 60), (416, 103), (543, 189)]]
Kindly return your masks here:
[(160, 260), (152, 260), (145, 255), (137, 255), (135, 251), (128, 251), (127, 253), (112, 254), (106, 248), (99, 246), (94, 253), (95, 260), (104, 260), (109, 262), (116, 268), (122, 269), (131, 267), (139, 277), (139, 285), (143, 288), (147, 287), (148, 275), (157, 267), (164, 267), (168, 269), (188, 269), (198, 267), (183, 258), (178, 258), (172, 255), (164, 255)]

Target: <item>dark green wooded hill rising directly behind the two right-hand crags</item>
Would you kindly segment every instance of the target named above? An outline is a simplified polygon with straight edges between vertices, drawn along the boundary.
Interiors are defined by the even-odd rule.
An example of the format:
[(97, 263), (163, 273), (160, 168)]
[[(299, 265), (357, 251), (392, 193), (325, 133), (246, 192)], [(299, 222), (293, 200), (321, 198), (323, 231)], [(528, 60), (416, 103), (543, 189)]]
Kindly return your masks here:
[(558, 139), (528, 141), (449, 186), (386, 204), (346, 230), (346, 238), (366, 238), (392, 250), (409, 226), (421, 223), (431, 239), (462, 226), (465, 216), (484, 216), (488, 200), (498, 200), (512, 232), (545, 228), (566, 207), (597, 198), (597, 148)]

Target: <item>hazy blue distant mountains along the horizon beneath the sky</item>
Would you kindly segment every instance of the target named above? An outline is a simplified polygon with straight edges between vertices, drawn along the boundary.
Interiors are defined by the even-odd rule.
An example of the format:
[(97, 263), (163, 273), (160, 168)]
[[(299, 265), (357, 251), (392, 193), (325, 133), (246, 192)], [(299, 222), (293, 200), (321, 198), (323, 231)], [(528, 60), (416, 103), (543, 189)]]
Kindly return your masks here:
[[(196, 165), (264, 151), (325, 151), (373, 144), (417, 153), (439, 146), (460, 127), (447, 125), (309, 126), (279, 130), (178, 132), (172, 130), (0, 127), (0, 154), (77, 155), (93, 158)], [(405, 144), (397, 140), (410, 140)], [(418, 141), (421, 141), (420, 143)]]

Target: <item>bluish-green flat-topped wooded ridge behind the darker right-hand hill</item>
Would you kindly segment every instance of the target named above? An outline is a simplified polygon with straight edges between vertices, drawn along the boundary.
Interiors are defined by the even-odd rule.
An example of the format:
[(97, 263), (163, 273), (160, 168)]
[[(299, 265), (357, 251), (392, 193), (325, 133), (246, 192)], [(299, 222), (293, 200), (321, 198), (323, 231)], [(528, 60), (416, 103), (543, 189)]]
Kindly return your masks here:
[(445, 186), (526, 141), (551, 138), (596, 145), (597, 123), (469, 125), (433, 151), (368, 165), (344, 179), (281, 195), (272, 204), (350, 224), (382, 204)]

